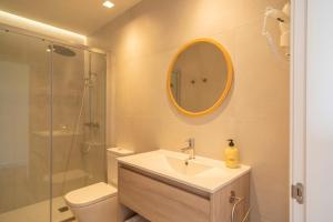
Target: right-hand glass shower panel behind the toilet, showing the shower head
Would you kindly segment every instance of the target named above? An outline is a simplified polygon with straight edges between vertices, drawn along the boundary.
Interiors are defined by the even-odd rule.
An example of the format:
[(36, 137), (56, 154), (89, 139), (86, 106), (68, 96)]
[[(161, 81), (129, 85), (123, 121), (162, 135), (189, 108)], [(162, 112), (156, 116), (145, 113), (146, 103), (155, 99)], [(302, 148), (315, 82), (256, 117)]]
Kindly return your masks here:
[(52, 53), (52, 221), (70, 221), (65, 193), (105, 181), (105, 58), (68, 46)]

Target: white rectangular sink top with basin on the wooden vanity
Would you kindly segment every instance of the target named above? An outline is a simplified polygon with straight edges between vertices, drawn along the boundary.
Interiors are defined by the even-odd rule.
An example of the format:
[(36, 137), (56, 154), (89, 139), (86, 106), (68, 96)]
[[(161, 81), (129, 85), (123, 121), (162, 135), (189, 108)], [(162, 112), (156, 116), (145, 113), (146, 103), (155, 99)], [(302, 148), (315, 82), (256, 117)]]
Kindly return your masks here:
[(157, 150), (119, 158), (118, 160), (121, 164), (130, 165), (209, 193), (214, 193), (250, 171), (248, 165), (229, 169), (223, 161), (198, 155), (194, 160), (186, 161), (188, 158), (189, 155), (184, 153)]

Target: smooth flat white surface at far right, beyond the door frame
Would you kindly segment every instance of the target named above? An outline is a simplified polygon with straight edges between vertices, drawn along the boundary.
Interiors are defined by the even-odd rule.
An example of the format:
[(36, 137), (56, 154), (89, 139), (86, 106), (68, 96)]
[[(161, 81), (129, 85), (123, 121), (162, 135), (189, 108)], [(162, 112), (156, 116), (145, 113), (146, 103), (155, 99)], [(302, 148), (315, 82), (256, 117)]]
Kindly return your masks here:
[(307, 6), (307, 222), (333, 221), (333, 1)]

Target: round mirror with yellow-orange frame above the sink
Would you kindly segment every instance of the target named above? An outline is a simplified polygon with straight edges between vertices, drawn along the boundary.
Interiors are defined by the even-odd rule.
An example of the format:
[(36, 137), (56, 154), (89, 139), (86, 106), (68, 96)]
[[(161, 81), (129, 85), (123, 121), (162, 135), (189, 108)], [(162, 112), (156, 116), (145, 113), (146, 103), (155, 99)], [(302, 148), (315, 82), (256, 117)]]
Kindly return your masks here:
[(168, 73), (172, 103), (184, 114), (212, 112), (224, 101), (233, 68), (225, 48), (211, 39), (185, 44), (174, 57)]

